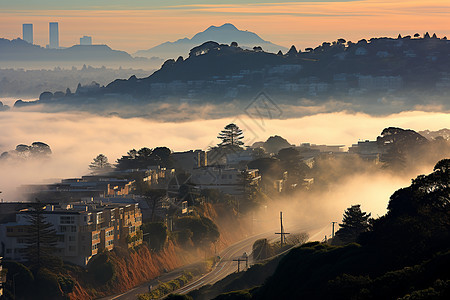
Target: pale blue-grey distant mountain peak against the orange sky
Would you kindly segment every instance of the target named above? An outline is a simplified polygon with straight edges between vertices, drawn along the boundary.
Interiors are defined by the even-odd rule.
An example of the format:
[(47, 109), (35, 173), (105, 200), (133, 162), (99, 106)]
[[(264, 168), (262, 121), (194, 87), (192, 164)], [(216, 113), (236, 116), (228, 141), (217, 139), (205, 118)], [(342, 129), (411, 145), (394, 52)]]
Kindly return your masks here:
[(147, 50), (139, 50), (136, 56), (143, 57), (161, 57), (161, 58), (177, 58), (185, 56), (189, 50), (195, 46), (208, 41), (214, 41), (220, 44), (238, 43), (242, 48), (253, 48), (260, 46), (268, 52), (286, 51), (287, 48), (273, 44), (263, 40), (256, 33), (250, 31), (239, 30), (233, 24), (226, 23), (221, 26), (210, 26), (205, 31), (195, 34), (191, 39), (183, 38), (175, 42), (165, 42)]

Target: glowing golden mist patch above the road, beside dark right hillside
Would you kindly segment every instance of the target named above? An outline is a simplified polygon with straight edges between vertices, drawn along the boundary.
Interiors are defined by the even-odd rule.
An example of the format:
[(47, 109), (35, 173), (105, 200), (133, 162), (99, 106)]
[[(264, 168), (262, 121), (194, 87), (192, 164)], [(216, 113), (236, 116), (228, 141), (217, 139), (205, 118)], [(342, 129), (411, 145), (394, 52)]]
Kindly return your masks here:
[[(322, 240), (325, 236), (330, 237), (331, 222), (342, 223), (344, 210), (351, 205), (360, 204), (361, 210), (371, 213), (373, 218), (381, 217), (387, 211), (389, 197), (410, 182), (408, 176), (381, 172), (350, 176), (325, 190), (297, 192), (271, 199), (267, 207), (254, 214), (255, 226), (263, 232), (273, 229), (279, 232), (279, 214), (282, 211), (285, 232), (307, 232), (310, 240)], [(338, 229), (336, 224), (335, 232)]]

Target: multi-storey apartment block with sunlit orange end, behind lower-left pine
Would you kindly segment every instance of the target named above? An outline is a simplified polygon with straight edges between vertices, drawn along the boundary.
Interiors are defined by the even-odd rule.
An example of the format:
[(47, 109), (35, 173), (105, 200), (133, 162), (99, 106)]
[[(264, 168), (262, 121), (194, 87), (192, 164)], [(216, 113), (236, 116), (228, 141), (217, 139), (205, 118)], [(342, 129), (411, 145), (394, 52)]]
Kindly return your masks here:
[[(16, 220), (0, 224), (0, 240), (5, 258), (23, 261), (29, 235), (31, 209), (16, 213)], [(115, 245), (142, 243), (137, 234), (142, 214), (137, 203), (72, 203), (47, 205), (45, 221), (56, 230), (55, 255), (64, 261), (85, 266), (92, 256)]]

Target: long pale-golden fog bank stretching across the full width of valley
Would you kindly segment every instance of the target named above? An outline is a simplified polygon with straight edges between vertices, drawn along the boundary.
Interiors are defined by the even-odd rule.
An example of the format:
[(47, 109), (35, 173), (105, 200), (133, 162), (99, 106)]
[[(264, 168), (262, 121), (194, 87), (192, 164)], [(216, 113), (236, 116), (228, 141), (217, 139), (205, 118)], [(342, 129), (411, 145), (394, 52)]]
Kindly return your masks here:
[(20, 200), (14, 199), (13, 191), (21, 184), (86, 174), (88, 164), (99, 153), (105, 154), (114, 163), (128, 150), (144, 146), (167, 146), (174, 151), (207, 149), (218, 143), (217, 133), (230, 122), (235, 122), (244, 130), (247, 145), (264, 141), (271, 135), (281, 135), (293, 144), (309, 142), (350, 146), (358, 139), (376, 138), (383, 128), (389, 126), (416, 131), (448, 127), (450, 115), (404, 112), (373, 117), (341, 112), (286, 120), (238, 116), (180, 123), (101, 117), (87, 113), (1, 112), (0, 153), (12, 150), (18, 144), (35, 141), (47, 143), (53, 151), (51, 160), (46, 162), (1, 165), (1, 198), (5, 201)]

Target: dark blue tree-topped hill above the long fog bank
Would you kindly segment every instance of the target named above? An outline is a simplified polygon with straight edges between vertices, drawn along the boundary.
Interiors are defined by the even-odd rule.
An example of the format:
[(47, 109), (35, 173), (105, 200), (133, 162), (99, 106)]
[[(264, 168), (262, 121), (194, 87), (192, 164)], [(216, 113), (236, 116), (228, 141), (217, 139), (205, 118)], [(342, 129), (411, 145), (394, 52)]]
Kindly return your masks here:
[[(277, 54), (261, 47), (246, 50), (237, 43), (206, 42), (191, 49), (186, 59), (167, 60), (149, 77), (115, 80), (76, 96), (120, 103), (120, 95), (127, 95), (133, 105), (180, 100), (226, 103), (248, 102), (264, 90), (281, 103), (308, 99), (310, 105), (321, 105), (333, 100), (368, 113), (383, 113), (387, 107), (389, 113), (417, 107), (448, 110), (448, 53), (450, 41), (429, 34), (356, 43), (339, 39)], [(72, 101), (51, 100), (52, 105), (58, 103), (53, 100)]]

